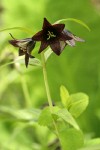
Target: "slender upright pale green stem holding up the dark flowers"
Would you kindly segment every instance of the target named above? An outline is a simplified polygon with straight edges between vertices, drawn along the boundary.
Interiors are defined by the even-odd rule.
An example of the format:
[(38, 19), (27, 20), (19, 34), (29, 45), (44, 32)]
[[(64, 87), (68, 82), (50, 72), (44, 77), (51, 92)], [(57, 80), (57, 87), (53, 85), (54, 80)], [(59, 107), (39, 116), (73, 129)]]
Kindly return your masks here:
[[(45, 89), (46, 89), (46, 93), (47, 93), (47, 99), (48, 99), (50, 111), (51, 111), (51, 114), (52, 114), (53, 113), (53, 103), (52, 103), (49, 84), (48, 84), (48, 79), (47, 79), (47, 71), (46, 71), (46, 63), (45, 63), (44, 52), (41, 53), (41, 59), (42, 59), (42, 66), (43, 66), (43, 76), (44, 76)], [(53, 125), (54, 125), (55, 130), (56, 130), (56, 135), (57, 135), (57, 137), (59, 138), (59, 141), (60, 141), (59, 131), (57, 129), (56, 122), (55, 122), (54, 118), (52, 118), (52, 119), (53, 119)]]

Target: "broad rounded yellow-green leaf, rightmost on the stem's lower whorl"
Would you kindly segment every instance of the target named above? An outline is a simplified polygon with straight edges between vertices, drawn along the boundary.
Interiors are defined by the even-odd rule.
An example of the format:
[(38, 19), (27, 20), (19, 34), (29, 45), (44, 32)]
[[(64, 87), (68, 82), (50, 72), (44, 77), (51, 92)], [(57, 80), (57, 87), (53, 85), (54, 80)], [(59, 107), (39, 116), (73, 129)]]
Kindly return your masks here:
[(89, 97), (84, 93), (76, 93), (70, 95), (68, 98), (68, 101), (70, 101), (70, 107), (69, 112), (74, 116), (78, 117), (80, 116), (89, 103)]

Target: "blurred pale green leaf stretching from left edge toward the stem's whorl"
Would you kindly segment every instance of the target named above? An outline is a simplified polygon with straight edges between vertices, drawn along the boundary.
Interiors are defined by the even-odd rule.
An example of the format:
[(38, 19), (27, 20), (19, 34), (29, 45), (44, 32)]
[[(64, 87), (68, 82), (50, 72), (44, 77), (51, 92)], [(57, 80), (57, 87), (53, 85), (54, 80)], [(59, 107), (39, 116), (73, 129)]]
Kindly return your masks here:
[(11, 119), (18, 120), (18, 121), (37, 121), (40, 115), (39, 109), (21, 109), (16, 110), (6, 106), (0, 106), (0, 118), (9, 120)]

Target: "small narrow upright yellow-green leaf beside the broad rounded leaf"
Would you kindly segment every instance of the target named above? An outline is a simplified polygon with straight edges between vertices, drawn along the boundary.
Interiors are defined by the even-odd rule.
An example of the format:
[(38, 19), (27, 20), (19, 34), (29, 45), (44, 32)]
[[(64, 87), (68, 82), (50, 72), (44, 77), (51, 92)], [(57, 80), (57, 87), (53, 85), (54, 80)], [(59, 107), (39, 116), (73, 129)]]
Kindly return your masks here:
[(63, 86), (63, 85), (60, 87), (60, 97), (61, 97), (62, 104), (63, 104), (66, 108), (68, 108), (69, 103), (70, 103), (70, 101), (68, 100), (69, 92), (68, 92), (68, 90), (65, 88), (65, 86)]

